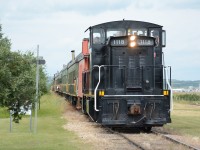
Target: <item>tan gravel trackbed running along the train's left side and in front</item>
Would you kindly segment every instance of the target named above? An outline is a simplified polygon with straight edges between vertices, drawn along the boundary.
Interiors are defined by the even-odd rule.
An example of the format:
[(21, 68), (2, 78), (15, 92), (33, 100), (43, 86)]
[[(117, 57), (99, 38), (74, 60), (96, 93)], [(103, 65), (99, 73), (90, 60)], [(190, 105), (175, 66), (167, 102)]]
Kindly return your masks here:
[(91, 149), (190, 149), (173, 143), (160, 134), (118, 131), (101, 126), (80, 111), (76, 111), (69, 102), (66, 103), (64, 118), (67, 119), (64, 129), (75, 132), (83, 143), (91, 145)]

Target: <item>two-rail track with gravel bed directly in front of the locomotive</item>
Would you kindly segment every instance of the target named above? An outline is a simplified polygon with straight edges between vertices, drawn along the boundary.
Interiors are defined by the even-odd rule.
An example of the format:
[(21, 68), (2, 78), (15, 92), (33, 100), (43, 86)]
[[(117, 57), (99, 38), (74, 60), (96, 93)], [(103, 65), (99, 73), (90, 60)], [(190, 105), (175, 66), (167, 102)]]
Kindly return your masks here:
[(169, 134), (159, 133), (153, 130), (151, 133), (127, 133), (128, 131), (115, 131), (110, 128), (106, 129), (114, 134), (123, 137), (133, 147), (137, 147), (140, 150), (151, 149), (173, 149), (173, 150), (200, 150), (194, 146), (188, 145), (184, 142), (178, 141), (171, 137)]

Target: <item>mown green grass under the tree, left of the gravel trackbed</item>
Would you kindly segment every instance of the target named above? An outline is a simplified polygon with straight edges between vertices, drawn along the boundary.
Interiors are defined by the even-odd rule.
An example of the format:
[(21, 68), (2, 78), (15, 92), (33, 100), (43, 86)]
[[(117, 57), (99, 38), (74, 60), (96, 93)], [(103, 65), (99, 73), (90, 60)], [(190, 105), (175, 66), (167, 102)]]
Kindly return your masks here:
[(75, 133), (62, 128), (66, 124), (66, 120), (62, 119), (62, 112), (64, 111), (65, 105), (66, 102), (63, 98), (54, 94), (43, 96), (41, 99), (41, 110), (38, 112), (38, 128), (36, 134), (29, 130), (29, 116), (23, 117), (19, 124), (13, 123), (13, 129), (10, 133), (9, 118), (6, 118), (9, 115), (2, 114), (5, 111), (1, 108), (0, 149), (90, 149), (89, 145), (83, 145)]

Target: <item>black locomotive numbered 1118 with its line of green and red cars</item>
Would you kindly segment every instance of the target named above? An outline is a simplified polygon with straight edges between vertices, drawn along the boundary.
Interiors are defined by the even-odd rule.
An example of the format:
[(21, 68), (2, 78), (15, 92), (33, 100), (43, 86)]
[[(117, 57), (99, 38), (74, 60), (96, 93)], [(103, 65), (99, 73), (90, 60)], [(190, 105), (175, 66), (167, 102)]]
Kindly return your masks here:
[(111, 127), (171, 122), (171, 67), (164, 65), (162, 26), (113, 21), (88, 28), (82, 52), (54, 75), (54, 90), (93, 121)]

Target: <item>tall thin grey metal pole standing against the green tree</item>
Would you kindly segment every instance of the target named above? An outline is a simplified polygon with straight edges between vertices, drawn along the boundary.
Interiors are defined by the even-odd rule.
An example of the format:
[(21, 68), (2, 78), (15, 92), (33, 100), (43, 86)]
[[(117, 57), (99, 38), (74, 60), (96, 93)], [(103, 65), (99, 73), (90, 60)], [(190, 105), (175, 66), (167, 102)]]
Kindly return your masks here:
[(34, 133), (37, 132), (37, 111), (38, 111), (38, 85), (39, 85), (39, 45), (37, 46), (37, 60), (36, 60), (36, 95), (35, 95), (35, 121)]

